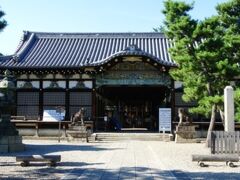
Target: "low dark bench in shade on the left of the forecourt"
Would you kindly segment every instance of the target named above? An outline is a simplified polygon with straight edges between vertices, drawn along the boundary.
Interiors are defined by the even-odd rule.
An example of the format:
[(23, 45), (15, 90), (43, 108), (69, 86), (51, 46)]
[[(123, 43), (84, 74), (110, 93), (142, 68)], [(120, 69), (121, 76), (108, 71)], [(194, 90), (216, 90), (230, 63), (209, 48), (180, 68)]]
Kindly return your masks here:
[(21, 155), (16, 156), (16, 162), (21, 162), (22, 167), (26, 167), (30, 162), (47, 162), (49, 166), (56, 166), (57, 162), (61, 161), (60, 155)]

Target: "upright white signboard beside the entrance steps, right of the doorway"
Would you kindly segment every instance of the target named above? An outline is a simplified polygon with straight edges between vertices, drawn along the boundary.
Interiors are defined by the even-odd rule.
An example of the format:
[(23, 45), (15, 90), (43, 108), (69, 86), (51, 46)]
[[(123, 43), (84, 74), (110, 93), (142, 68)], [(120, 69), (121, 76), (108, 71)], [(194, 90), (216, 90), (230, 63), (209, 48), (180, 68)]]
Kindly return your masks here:
[(171, 108), (159, 108), (159, 131), (172, 130)]

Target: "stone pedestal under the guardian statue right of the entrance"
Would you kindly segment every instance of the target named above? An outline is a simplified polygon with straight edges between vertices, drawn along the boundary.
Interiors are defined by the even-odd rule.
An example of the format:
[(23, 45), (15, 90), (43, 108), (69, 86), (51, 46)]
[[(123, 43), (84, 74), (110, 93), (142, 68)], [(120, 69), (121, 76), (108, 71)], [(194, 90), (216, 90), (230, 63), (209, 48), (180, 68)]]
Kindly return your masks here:
[(196, 142), (196, 126), (190, 124), (180, 124), (176, 128), (176, 143), (193, 143)]

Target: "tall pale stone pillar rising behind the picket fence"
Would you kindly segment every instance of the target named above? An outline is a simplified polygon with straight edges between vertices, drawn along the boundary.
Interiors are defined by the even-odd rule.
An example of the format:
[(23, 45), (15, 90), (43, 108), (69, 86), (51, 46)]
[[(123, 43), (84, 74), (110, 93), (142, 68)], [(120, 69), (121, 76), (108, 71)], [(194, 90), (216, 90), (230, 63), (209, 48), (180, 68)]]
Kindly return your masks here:
[(234, 99), (233, 99), (233, 88), (226, 86), (224, 89), (224, 130), (226, 132), (235, 131), (234, 123)]

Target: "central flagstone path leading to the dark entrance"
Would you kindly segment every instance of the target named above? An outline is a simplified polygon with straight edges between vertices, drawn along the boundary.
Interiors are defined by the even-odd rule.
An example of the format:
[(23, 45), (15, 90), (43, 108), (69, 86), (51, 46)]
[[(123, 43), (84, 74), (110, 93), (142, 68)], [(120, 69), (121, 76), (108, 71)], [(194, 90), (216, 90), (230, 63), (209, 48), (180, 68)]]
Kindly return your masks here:
[(174, 178), (171, 172), (164, 171), (156, 153), (146, 143), (112, 143), (108, 149), (97, 157), (88, 159), (90, 165), (73, 169), (62, 179)]

